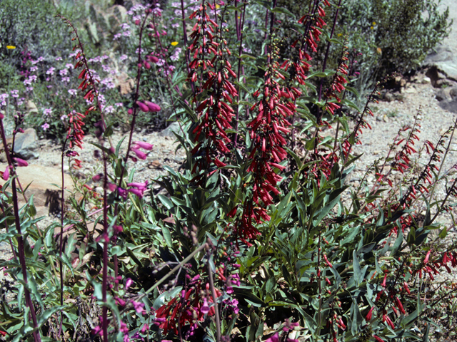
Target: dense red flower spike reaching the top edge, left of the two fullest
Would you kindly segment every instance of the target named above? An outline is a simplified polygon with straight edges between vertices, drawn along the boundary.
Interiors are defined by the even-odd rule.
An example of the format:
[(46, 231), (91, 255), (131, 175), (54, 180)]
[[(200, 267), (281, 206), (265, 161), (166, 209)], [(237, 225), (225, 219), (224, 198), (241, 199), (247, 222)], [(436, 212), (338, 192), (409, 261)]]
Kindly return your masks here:
[(230, 152), (227, 145), (231, 143), (231, 139), (225, 130), (232, 128), (231, 120), (235, 114), (231, 103), (233, 97), (238, 95), (230, 81), (230, 78), (237, 77), (236, 73), (232, 71), (231, 63), (224, 56), (226, 53), (230, 55), (231, 52), (226, 46), (227, 41), (221, 37), (219, 42), (216, 41), (221, 27), (211, 19), (208, 8), (214, 10), (215, 6), (206, 4), (203, 0), (200, 8), (190, 16), (190, 19), (196, 19), (196, 24), (190, 35), (192, 43), (189, 50), (193, 59), (189, 64), (189, 80), (193, 83), (196, 83), (198, 78), (206, 80), (196, 85), (196, 93), (207, 94), (201, 103), (196, 96), (194, 97), (200, 123), (193, 130), (197, 145), (191, 152), (201, 157), (196, 160), (193, 173), (216, 167), (210, 172), (213, 173), (217, 167), (226, 166), (219, 157)]

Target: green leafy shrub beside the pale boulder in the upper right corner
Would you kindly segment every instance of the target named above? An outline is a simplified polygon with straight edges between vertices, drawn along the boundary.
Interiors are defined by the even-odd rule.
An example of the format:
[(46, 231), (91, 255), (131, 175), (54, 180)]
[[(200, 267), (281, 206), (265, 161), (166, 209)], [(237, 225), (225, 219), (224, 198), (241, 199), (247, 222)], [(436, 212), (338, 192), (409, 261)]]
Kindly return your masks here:
[(432, 48), (448, 36), (448, 9), (440, 14), (436, 1), (347, 1), (338, 16), (339, 34), (348, 35), (348, 48), (361, 53), (359, 90), (384, 75), (411, 73)]

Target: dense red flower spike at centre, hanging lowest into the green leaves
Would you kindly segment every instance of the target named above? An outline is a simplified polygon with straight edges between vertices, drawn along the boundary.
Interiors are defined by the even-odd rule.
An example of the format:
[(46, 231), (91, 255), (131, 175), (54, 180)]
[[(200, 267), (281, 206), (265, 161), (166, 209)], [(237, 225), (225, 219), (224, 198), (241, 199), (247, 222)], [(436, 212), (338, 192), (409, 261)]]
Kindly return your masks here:
[(297, 88), (281, 86), (280, 81), (285, 78), (279, 71), (279, 63), (273, 60), (277, 54), (278, 49), (272, 44), (267, 55), (269, 63), (264, 75), (265, 82), (261, 89), (253, 93), (258, 98), (251, 107), (251, 112), (256, 117), (247, 125), (252, 141), (251, 153), (248, 155), (251, 163), (247, 172), (252, 172), (253, 179), (251, 198), (244, 202), (243, 213), (236, 222), (236, 232), (243, 242), (259, 234), (253, 226), (253, 220), (257, 224), (262, 219), (270, 220), (266, 214), (266, 207), (273, 203), (270, 192), (273, 195), (279, 194), (277, 185), (282, 179), (275, 170), (285, 169), (279, 163), (287, 157), (287, 152), (282, 147), (286, 145), (285, 135), (290, 133), (288, 127), (291, 123), (287, 119), (295, 113), (293, 101), (301, 95)]

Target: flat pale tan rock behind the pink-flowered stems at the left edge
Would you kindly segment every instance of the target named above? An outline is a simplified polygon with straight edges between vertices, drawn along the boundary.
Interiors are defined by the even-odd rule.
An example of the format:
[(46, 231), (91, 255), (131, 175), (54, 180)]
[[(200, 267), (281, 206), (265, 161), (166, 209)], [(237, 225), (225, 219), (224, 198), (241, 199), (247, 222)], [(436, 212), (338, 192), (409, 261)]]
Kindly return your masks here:
[[(6, 164), (0, 164), (0, 170), (5, 170)], [(29, 165), (28, 167), (17, 167), (17, 175), (19, 182), (23, 188), (30, 186), (26, 190), (26, 198), (34, 196), (34, 204), (37, 212), (43, 212), (44, 207), (47, 207), (47, 212), (59, 212), (61, 205), (61, 191), (51, 184), (61, 185), (62, 175), (57, 167), (44, 167), (40, 165)], [(73, 189), (73, 180), (69, 175), (64, 175), (65, 187), (67, 190)], [(0, 179), (0, 184), (3, 185), (4, 180)], [(65, 197), (68, 196), (66, 192)], [(19, 207), (24, 205), (24, 197), (19, 195)]]

